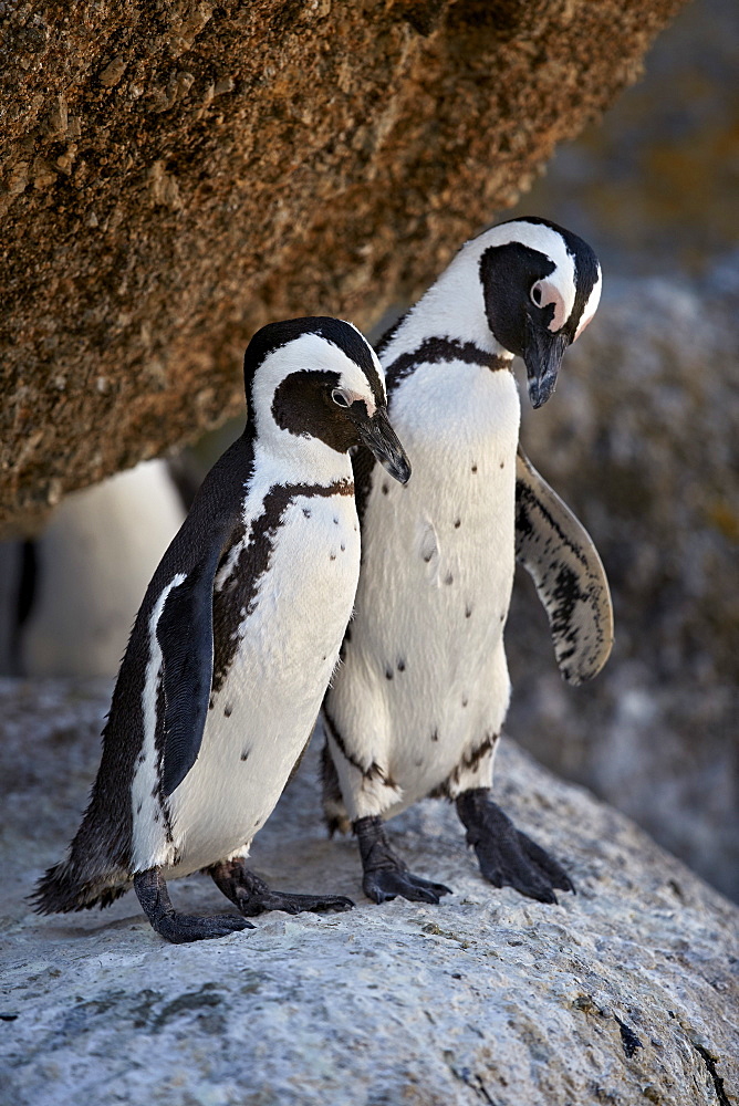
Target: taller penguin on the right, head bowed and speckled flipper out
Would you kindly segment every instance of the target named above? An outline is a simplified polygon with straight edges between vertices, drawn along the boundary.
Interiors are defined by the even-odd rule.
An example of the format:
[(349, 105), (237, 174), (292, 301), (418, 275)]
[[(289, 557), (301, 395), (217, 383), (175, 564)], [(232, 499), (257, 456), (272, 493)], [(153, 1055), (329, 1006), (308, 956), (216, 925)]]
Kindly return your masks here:
[(454, 800), (482, 874), (541, 901), (573, 889), (562, 867), (492, 802), (508, 710), (503, 649), (517, 557), (550, 618), (563, 675), (594, 676), (612, 643), (603, 567), (574, 515), (518, 451), (529, 397), (551, 396), (564, 349), (593, 317), (591, 248), (543, 219), (468, 242), (382, 341), (388, 405), (414, 467), (396, 489), (354, 460), (362, 571), (343, 664), (326, 693), (324, 810), (358, 838), (365, 893), (438, 901), (408, 872), (383, 821), (424, 796)]

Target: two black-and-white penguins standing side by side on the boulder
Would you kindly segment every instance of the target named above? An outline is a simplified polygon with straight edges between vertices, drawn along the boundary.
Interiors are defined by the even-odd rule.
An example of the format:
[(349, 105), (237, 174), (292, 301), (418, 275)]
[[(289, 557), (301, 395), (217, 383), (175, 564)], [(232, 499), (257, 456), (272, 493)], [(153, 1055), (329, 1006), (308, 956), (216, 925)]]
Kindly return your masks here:
[[(90, 806), (67, 859), (40, 881), (37, 909), (105, 906), (133, 883), (157, 932), (180, 942), (243, 929), (262, 910), (351, 906), (272, 891), (246, 857), (337, 660), (357, 584), (357, 510), (356, 613), (324, 702), (324, 806), (331, 828), (354, 827), (366, 894), (448, 893), (409, 873), (383, 827), (425, 795), (456, 802), (496, 886), (542, 901), (572, 888), (489, 790), (510, 697), (514, 560), (534, 578), (565, 679), (594, 676), (611, 648), (602, 565), (518, 449), (510, 371), (522, 356), (541, 406), (600, 286), (592, 250), (544, 220), (503, 223), (460, 251), (379, 349), (415, 467), (403, 489), (385, 477), (405, 484), (409, 466), (358, 332), (308, 319), (254, 336), (249, 424), (149, 585)], [(166, 879), (198, 868), (241, 917), (174, 910)]]

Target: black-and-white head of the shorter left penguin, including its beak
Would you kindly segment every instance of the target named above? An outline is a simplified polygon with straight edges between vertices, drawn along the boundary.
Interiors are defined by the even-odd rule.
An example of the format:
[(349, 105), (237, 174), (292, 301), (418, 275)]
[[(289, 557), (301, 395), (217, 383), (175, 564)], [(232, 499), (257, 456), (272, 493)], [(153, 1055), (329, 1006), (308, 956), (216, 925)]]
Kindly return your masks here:
[(323, 315), (268, 323), (243, 358), (249, 417), (278, 451), (318, 441), (340, 453), (365, 445), (406, 483), (410, 465), (387, 417), (385, 376), (352, 323)]

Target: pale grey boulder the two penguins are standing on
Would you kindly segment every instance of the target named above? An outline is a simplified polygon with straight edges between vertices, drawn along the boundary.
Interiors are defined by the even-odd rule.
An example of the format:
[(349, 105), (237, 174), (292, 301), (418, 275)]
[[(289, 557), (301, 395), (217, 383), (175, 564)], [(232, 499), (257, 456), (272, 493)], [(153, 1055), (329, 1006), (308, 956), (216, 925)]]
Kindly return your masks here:
[[(570, 867), (579, 894), (556, 907), (483, 884), (433, 802), (393, 835), (456, 894), (367, 904), (355, 844), (322, 836), (313, 753), (253, 863), (274, 886), (350, 894), (353, 912), (179, 948), (131, 895), (35, 918), (22, 895), (75, 828), (105, 707), (100, 684), (0, 682), (3, 1104), (739, 1103), (736, 907), (511, 742), (499, 799)], [(222, 907), (201, 876), (173, 893)]]

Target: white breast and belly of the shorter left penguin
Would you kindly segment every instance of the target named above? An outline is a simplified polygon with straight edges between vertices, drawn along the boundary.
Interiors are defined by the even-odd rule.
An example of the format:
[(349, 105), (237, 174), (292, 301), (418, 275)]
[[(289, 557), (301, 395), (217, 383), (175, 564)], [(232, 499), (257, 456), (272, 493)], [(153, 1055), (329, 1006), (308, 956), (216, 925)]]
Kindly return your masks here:
[(150, 821), (135, 825), (139, 866), (186, 875), (242, 849), (263, 825), (315, 722), (358, 566), (353, 497), (294, 499), (212, 697), (198, 760), (170, 797), (173, 839)]

